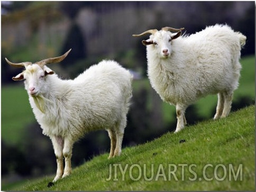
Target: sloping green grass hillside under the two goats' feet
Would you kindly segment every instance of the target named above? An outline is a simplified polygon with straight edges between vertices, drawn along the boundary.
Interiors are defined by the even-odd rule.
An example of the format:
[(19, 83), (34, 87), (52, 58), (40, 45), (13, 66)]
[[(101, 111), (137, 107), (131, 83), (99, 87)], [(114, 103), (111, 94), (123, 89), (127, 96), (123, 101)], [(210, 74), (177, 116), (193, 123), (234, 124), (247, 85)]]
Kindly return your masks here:
[[(125, 148), (111, 160), (107, 153), (94, 157), (51, 188), (47, 185), (54, 176), (29, 180), (12, 190), (255, 191), (254, 110), (251, 106), (224, 119), (169, 132), (144, 145)], [(126, 165), (122, 176), (120, 167)], [(112, 178), (107, 180), (109, 166)]]

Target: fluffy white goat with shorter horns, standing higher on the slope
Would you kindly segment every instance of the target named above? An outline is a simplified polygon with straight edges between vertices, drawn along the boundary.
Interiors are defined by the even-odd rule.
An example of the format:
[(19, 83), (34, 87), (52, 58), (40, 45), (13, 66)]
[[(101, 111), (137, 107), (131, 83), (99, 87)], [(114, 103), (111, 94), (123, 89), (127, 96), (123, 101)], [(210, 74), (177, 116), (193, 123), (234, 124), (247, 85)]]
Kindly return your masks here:
[(179, 37), (181, 30), (184, 28), (163, 27), (160, 31), (133, 35), (152, 34), (142, 41), (147, 45), (148, 76), (161, 99), (176, 105), (175, 132), (186, 124), (188, 105), (208, 94), (218, 94), (214, 119), (228, 115), (233, 92), (239, 84), (240, 51), (246, 41), (244, 35), (227, 25), (217, 24)]

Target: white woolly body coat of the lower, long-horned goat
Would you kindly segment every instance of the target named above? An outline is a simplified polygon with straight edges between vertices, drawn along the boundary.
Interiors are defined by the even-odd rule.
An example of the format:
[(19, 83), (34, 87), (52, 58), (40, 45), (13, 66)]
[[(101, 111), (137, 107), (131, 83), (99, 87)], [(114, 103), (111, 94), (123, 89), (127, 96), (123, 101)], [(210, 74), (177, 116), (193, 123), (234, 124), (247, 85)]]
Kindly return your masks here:
[(91, 66), (74, 80), (47, 75), (43, 113), (30, 96), (30, 104), (44, 135), (71, 137), (76, 141), (84, 133), (113, 129), (126, 116), (131, 98), (132, 75), (114, 61)]

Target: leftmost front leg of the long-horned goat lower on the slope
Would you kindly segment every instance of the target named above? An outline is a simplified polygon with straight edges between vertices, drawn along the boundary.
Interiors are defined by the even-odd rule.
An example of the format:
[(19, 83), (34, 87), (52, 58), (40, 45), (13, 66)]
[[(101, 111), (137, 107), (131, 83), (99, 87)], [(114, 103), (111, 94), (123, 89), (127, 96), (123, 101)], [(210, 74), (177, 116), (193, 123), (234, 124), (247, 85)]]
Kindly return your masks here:
[(56, 155), (56, 161), (57, 161), (57, 171), (56, 176), (53, 179), (53, 182), (60, 179), (63, 175), (63, 144), (64, 140), (60, 136), (53, 136), (51, 137), (54, 153)]

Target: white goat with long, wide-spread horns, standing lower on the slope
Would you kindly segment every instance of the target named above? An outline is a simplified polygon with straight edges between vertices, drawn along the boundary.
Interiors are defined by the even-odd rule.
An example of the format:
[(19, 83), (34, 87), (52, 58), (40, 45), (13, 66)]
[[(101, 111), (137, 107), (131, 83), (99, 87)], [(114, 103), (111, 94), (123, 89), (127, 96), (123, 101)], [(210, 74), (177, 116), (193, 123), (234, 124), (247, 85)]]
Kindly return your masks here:
[(53, 182), (71, 174), (72, 146), (88, 131), (106, 129), (111, 139), (108, 158), (120, 155), (132, 97), (132, 75), (115, 61), (93, 65), (74, 80), (59, 79), (45, 64), (62, 61), (69, 51), (34, 64), (6, 59), (12, 66), (25, 67), (13, 80), (25, 80), (35, 118), (52, 141), (57, 158)]

